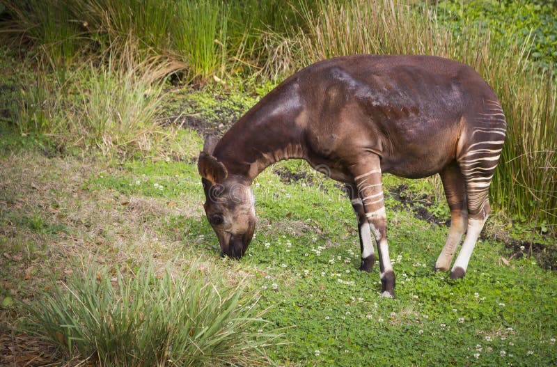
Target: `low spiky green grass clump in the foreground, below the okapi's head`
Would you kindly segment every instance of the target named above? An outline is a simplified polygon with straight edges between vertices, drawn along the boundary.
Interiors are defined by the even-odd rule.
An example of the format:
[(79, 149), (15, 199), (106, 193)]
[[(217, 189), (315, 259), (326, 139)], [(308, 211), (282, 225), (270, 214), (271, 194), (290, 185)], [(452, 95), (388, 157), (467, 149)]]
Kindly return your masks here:
[(28, 306), (26, 329), (101, 366), (253, 366), (274, 334), (242, 295), (196, 265), (179, 275), (88, 266)]

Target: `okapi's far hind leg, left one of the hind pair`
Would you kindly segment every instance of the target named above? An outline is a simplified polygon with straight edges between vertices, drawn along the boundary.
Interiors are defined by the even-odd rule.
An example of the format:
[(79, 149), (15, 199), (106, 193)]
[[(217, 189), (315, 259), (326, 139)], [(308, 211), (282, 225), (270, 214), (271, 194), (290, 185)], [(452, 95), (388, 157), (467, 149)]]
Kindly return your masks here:
[(464, 177), (457, 164), (450, 164), (439, 173), (448, 207), (450, 208), (450, 229), (445, 246), (439, 253), (439, 258), (433, 268), (435, 271), (445, 272), (449, 270), (455, 252), (462, 235), (466, 233), (468, 223), (468, 210), (466, 208), (466, 186)]

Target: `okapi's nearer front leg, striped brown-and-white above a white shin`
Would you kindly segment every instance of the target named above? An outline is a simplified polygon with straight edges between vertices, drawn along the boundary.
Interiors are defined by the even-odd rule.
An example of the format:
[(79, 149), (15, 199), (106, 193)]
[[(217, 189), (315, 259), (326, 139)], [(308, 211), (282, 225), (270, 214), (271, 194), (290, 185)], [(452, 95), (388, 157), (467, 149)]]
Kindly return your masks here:
[(366, 212), (368, 224), (377, 243), (383, 297), (395, 297), (395, 273), (389, 257), (386, 237), (386, 212), (383, 202), (383, 182), (379, 157), (373, 155), (353, 169), (354, 182)]

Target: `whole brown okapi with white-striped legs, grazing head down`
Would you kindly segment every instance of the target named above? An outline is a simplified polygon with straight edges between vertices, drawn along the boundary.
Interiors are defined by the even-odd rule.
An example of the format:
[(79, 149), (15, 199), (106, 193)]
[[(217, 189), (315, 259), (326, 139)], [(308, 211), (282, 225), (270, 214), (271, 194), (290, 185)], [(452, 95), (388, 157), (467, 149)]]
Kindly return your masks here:
[(256, 224), (251, 183), (270, 164), (305, 159), (344, 182), (358, 218), (360, 270), (377, 244), (382, 296), (394, 297), (382, 173), (441, 175), (450, 229), (434, 270), (466, 273), (489, 215), (488, 189), (505, 139), (494, 91), (469, 65), (435, 56), (356, 55), (320, 61), (253, 106), (198, 159), (207, 219), (221, 254), (240, 258)]

